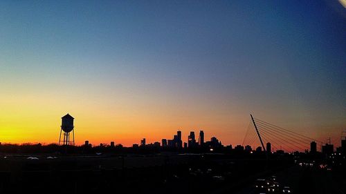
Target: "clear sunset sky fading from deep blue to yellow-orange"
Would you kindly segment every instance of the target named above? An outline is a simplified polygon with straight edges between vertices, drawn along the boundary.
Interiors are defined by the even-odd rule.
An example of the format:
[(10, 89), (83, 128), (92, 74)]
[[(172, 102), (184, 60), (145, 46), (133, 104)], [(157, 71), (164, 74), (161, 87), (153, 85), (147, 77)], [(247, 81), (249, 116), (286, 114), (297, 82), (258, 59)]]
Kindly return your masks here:
[(66, 113), (77, 144), (346, 129), (338, 1), (1, 1), (0, 23), (0, 142), (57, 143)]

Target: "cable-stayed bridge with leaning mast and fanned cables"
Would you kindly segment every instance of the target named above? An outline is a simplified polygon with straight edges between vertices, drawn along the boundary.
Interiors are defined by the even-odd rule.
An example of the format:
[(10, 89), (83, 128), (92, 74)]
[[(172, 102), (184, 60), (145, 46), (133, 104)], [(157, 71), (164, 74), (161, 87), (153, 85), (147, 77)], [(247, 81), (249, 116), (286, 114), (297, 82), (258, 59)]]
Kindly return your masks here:
[(316, 148), (318, 151), (321, 150), (322, 146), (322, 142), (316, 139), (265, 122), (251, 115), (251, 121), (246, 128), (246, 134), (242, 146), (260, 145), (265, 151), (266, 143), (268, 142), (271, 143), (272, 151), (282, 150), (286, 152), (304, 152), (310, 150), (311, 142), (316, 142)]

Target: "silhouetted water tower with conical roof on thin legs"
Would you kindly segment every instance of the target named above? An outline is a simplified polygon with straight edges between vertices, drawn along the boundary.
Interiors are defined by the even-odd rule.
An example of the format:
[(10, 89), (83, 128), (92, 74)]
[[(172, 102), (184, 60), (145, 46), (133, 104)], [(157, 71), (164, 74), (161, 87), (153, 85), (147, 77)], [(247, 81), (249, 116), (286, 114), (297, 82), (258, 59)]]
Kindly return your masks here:
[[(73, 118), (67, 114), (62, 117), (62, 128), (60, 130), (59, 145), (63, 142), (63, 145), (75, 145), (75, 131), (73, 130)], [(62, 131), (64, 131), (64, 139), (62, 140)], [(72, 132), (72, 141), (70, 139), (70, 132)]]

